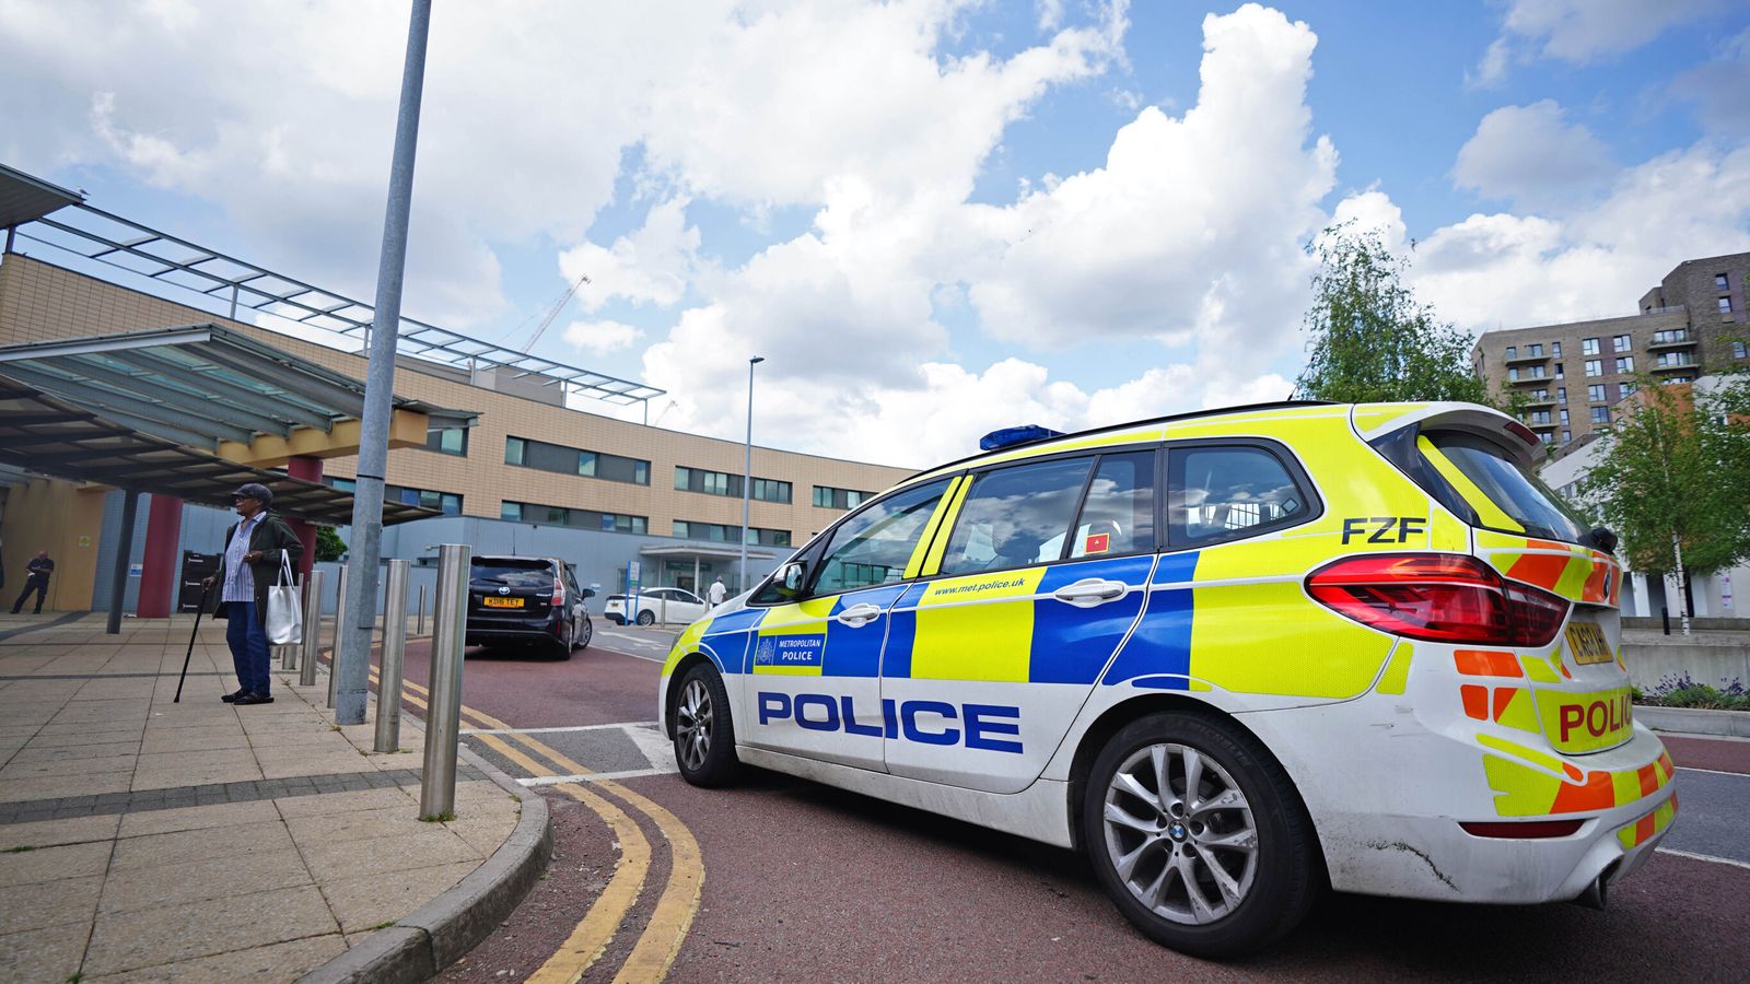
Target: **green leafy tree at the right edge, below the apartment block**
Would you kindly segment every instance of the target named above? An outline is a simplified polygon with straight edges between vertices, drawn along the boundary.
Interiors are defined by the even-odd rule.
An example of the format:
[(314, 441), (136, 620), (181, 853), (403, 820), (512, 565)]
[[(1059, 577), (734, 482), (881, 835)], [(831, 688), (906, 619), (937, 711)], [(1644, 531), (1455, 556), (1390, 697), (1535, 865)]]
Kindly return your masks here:
[(1750, 557), (1750, 406), (1745, 382), (1703, 394), (1643, 378), (1624, 401), (1603, 460), (1582, 485), (1634, 571), (1706, 574)]

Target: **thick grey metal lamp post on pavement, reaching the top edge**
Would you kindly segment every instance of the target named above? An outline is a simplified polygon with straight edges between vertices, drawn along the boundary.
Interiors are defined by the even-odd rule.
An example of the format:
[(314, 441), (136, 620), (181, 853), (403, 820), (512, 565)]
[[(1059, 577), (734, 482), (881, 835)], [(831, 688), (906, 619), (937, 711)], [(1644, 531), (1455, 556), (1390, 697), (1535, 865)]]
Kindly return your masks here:
[(401, 114), (396, 119), (396, 156), (388, 166), (388, 208), (383, 215), (383, 252), (376, 264), (376, 313), (371, 319), (371, 364), (364, 376), (364, 420), (359, 429), (359, 473), (352, 499), (352, 567), (346, 585), (346, 625), (334, 653), (340, 693), (334, 721), (362, 725), (371, 681), (371, 629), (376, 625), (378, 559), (383, 553), (383, 471), (388, 464), (390, 397), (396, 387), (396, 341), (401, 336), (401, 277), (408, 263), (408, 212), (413, 205), (413, 152), (420, 133), (420, 95), (425, 84), (425, 35), (430, 0), (413, 0), (408, 60), (401, 72)]

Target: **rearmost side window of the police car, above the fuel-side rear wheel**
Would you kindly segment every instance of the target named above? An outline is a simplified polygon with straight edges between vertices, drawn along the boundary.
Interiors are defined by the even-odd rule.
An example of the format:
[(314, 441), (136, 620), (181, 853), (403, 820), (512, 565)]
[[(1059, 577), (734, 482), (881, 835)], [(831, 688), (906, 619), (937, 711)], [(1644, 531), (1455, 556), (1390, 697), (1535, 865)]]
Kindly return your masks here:
[(1172, 448), (1167, 525), (1174, 546), (1220, 543), (1298, 524), (1311, 496), (1256, 445)]

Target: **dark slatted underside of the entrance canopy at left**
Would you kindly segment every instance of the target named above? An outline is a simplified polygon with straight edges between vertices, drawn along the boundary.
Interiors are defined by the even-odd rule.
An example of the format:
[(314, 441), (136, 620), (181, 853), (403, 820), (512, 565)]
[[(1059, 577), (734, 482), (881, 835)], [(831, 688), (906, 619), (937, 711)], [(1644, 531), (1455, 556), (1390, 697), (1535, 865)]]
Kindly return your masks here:
[[(278, 471), (250, 467), (142, 432), (32, 387), (0, 380), (0, 462), (52, 478), (175, 496), (205, 506), (231, 506), (245, 481), (273, 488), (273, 510), (322, 525), (352, 522), (352, 494)], [(383, 503), (383, 524), (443, 515)]]

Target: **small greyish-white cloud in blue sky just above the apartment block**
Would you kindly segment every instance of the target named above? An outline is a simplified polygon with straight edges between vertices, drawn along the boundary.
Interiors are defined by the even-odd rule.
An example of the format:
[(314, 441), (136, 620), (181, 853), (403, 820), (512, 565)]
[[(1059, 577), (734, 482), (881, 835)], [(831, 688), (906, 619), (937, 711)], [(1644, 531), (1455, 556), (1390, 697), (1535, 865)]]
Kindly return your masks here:
[(1452, 177), (1484, 198), (1538, 205), (1584, 194), (1615, 170), (1610, 151), (1591, 130), (1568, 124), (1554, 100), (1540, 100), (1484, 116), (1458, 151)]

